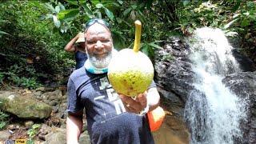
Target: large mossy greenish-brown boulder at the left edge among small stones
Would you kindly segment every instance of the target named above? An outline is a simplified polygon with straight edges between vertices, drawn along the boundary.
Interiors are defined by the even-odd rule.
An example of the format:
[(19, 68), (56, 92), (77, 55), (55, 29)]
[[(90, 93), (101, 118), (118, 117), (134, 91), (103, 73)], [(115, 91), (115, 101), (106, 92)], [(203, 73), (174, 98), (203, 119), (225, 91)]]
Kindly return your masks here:
[(1, 109), (18, 118), (49, 118), (52, 107), (30, 96), (0, 91)]

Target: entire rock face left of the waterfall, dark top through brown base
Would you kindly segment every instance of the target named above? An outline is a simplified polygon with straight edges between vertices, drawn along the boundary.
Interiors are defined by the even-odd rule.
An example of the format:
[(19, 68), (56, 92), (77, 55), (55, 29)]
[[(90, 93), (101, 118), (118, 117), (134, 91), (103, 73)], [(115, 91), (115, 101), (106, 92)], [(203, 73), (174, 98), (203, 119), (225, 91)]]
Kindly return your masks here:
[(155, 82), (162, 96), (161, 103), (166, 115), (162, 128), (154, 133), (156, 143), (189, 143), (189, 132), (183, 120), (187, 96), (193, 86), (190, 85), (194, 73), (187, 58), (188, 48), (179, 38), (171, 38), (164, 49), (155, 50)]

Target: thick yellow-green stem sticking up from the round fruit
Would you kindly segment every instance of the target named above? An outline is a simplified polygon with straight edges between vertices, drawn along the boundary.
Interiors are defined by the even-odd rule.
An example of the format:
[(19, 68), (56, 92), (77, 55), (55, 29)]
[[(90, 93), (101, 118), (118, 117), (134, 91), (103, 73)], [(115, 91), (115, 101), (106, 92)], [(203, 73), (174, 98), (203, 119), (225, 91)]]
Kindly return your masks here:
[(142, 22), (137, 20), (134, 22), (134, 24), (135, 24), (134, 52), (138, 52), (141, 44)]

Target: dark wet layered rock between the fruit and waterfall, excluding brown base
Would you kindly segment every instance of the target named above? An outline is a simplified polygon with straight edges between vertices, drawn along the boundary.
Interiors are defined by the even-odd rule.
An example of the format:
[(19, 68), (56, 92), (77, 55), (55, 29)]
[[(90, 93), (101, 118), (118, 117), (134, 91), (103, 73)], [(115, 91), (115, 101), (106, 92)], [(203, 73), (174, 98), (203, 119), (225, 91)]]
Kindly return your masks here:
[(164, 49), (155, 54), (155, 78), (158, 91), (174, 105), (184, 107), (194, 73), (187, 57), (189, 49), (179, 38), (171, 38)]

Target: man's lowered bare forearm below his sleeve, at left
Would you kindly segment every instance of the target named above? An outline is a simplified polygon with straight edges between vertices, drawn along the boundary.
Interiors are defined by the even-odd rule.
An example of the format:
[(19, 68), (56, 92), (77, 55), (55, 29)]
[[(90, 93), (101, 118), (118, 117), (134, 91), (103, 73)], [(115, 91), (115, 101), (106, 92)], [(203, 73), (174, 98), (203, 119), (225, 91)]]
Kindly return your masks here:
[(82, 114), (68, 114), (66, 118), (66, 143), (77, 144), (82, 133)]

